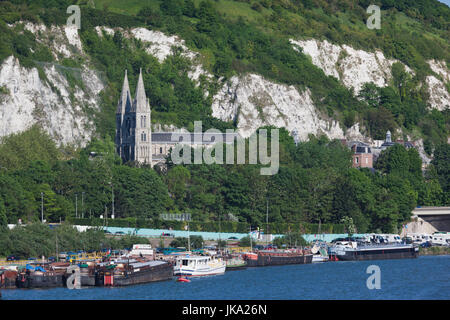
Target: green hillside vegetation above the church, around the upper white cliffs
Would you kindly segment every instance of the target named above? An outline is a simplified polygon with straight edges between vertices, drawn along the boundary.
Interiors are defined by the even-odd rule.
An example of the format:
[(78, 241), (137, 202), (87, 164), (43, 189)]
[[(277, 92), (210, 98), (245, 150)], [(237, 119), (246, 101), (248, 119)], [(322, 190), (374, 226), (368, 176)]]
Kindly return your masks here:
[[(101, 110), (95, 115), (97, 131), (105, 137), (114, 134), (114, 110), (123, 72), (134, 76), (145, 71), (147, 95), (153, 120), (189, 127), (203, 120), (207, 127), (233, 126), (211, 116), (211, 94), (206, 83), (197, 88), (187, 77), (188, 63), (179, 55), (159, 64), (145, 53), (139, 42), (130, 43), (120, 33), (97, 36), (95, 26), (147, 27), (179, 35), (186, 45), (201, 53), (202, 64), (217, 78), (256, 72), (275, 82), (309, 88), (315, 104), (330, 117), (350, 127), (360, 122), (368, 134), (379, 139), (386, 129), (402, 128), (420, 133), (431, 154), (448, 136), (448, 112), (427, 108), (426, 75), (433, 74), (426, 63), (437, 59), (450, 62), (448, 27), (450, 9), (436, 0), (376, 1), (361, 0), (11, 0), (0, 3), (0, 59), (11, 54), (26, 66), (49, 61), (48, 49), (28, 31), (11, 29), (6, 23), (17, 21), (64, 24), (70, 4), (81, 7), (80, 34), (86, 51), (97, 68), (107, 74), (108, 87), (102, 93)], [(382, 9), (382, 27), (366, 27), (370, 4)], [(289, 39), (327, 39), (357, 49), (382, 50), (411, 67), (409, 76), (400, 64), (393, 66), (393, 83), (375, 89), (377, 99), (359, 101), (336, 79), (327, 77), (305, 55), (293, 50)], [(422, 85), (421, 85), (422, 84)], [(373, 89), (373, 88), (372, 88)], [(418, 129), (418, 130), (417, 130)]]

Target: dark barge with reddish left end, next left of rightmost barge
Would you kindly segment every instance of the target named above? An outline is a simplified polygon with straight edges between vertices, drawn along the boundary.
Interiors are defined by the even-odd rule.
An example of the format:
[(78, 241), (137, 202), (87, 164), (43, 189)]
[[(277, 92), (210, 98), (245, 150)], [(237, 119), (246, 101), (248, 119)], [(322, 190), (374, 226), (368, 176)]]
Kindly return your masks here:
[(244, 259), (249, 267), (265, 267), (312, 263), (313, 255), (306, 250), (261, 250), (244, 254)]

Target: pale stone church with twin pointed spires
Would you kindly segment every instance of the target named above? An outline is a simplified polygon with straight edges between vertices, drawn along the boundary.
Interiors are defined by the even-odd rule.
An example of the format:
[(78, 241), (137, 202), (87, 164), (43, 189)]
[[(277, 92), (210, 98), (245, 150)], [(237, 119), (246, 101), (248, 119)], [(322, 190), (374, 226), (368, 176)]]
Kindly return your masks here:
[[(134, 99), (131, 98), (127, 71), (116, 110), (116, 152), (123, 162), (140, 164), (164, 164), (170, 149), (176, 144), (187, 143), (193, 148), (214, 144), (214, 134), (185, 133), (175, 137), (173, 132), (152, 132), (151, 107), (145, 94), (142, 69), (139, 71)], [(186, 135), (187, 138), (186, 139)], [(201, 136), (201, 137), (200, 137)], [(234, 143), (237, 133), (223, 133), (222, 141)]]

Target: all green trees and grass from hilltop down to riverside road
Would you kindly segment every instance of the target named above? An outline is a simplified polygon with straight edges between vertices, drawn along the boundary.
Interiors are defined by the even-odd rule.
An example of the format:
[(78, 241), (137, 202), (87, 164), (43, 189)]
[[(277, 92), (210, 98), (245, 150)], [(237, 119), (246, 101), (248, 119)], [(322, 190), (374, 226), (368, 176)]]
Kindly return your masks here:
[[(76, 213), (94, 219), (111, 215), (114, 199), (116, 218), (150, 220), (161, 227), (161, 213), (190, 212), (195, 221), (214, 223), (216, 229), (219, 221), (224, 225), (230, 217), (264, 228), (268, 204), (274, 232), (306, 231), (302, 228), (308, 223), (331, 226), (345, 217), (352, 218), (358, 232), (398, 232), (416, 205), (450, 204), (450, 111), (429, 110), (423, 85), (424, 77), (433, 74), (427, 60), (450, 62), (450, 9), (445, 5), (432, 0), (1, 1), (0, 60), (14, 55), (24, 66), (38, 69), (37, 62), (51, 62), (49, 49), (31, 33), (18, 34), (7, 24), (64, 24), (66, 9), (73, 3), (82, 8), (83, 46), (107, 78), (100, 110), (92, 115), (98, 139), (82, 149), (57, 146), (38, 126), (3, 138), (2, 225), (18, 219), (38, 221), (41, 205), (50, 222), (73, 219)], [(365, 27), (365, 9), (372, 3), (380, 5), (388, 27), (376, 31)], [(396, 145), (382, 153), (375, 171), (358, 170), (351, 168), (351, 153), (340, 141), (311, 136), (296, 145), (285, 130), (281, 130), (280, 170), (274, 176), (261, 176), (257, 165), (168, 163), (168, 170), (161, 171), (123, 164), (114, 153), (112, 137), (125, 69), (130, 70), (131, 87), (139, 68), (144, 69), (155, 123), (191, 129), (194, 120), (202, 120), (205, 130), (235, 124), (211, 116), (217, 82), (203, 79), (196, 86), (187, 76), (189, 62), (180, 52), (160, 63), (145, 53), (139, 41), (125, 39), (120, 32), (100, 37), (94, 30), (97, 25), (144, 26), (177, 34), (201, 53), (202, 64), (215, 80), (254, 72), (309, 88), (317, 107), (347, 128), (360, 122), (374, 139), (398, 128), (423, 138), (425, 151), (434, 156), (432, 164), (422, 172), (417, 151)], [(394, 64), (390, 86), (366, 84), (356, 97), (292, 49), (289, 39), (299, 36), (365, 50), (378, 48), (415, 74)], [(63, 63), (80, 65), (77, 58)], [(91, 152), (99, 156), (92, 157)]]

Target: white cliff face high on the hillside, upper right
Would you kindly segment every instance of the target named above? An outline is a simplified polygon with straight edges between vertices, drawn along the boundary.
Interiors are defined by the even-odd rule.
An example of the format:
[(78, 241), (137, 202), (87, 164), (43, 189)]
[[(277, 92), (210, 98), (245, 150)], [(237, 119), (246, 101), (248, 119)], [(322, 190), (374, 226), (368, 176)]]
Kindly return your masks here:
[[(347, 45), (335, 45), (327, 40), (291, 40), (294, 49), (309, 55), (312, 62), (328, 76), (340, 80), (347, 88), (359, 93), (366, 82), (385, 87), (392, 78), (391, 67), (395, 59), (387, 59), (381, 51), (355, 50)], [(412, 70), (405, 66), (409, 72)]]

